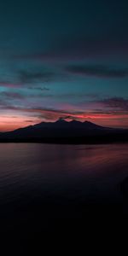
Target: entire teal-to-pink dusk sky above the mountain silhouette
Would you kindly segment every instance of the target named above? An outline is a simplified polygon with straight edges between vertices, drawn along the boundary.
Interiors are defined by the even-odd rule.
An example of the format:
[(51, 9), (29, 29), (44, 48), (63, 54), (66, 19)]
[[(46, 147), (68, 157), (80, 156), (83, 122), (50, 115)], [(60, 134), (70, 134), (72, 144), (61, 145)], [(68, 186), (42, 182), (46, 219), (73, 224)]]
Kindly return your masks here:
[(127, 9), (1, 0), (0, 131), (59, 118), (128, 128)]

